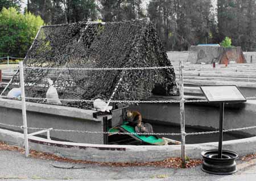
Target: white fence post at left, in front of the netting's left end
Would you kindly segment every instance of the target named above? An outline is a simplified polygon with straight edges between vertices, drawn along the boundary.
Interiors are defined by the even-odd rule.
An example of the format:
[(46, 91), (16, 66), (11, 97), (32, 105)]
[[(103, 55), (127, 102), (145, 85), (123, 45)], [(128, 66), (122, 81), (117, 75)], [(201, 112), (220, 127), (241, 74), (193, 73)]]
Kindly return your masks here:
[(26, 114), (26, 100), (25, 100), (25, 89), (24, 89), (23, 61), (19, 62), (19, 78), (20, 78), (21, 98), (22, 98), (22, 118), (23, 118), (25, 155), (26, 157), (28, 157), (29, 149), (28, 149), (28, 136), (27, 136), (27, 114)]

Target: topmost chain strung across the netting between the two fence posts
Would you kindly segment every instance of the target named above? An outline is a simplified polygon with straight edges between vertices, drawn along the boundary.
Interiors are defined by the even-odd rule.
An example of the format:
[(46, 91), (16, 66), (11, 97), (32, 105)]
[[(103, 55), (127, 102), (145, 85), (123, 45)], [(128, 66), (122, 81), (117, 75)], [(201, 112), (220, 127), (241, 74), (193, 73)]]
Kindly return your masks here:
[(24, 69), (43, 69), (43, 70), (152, 70), (152, 69), (171, 69), (173, 66), (154, 66), (144, 68), (48, 68), (24, 66)]

